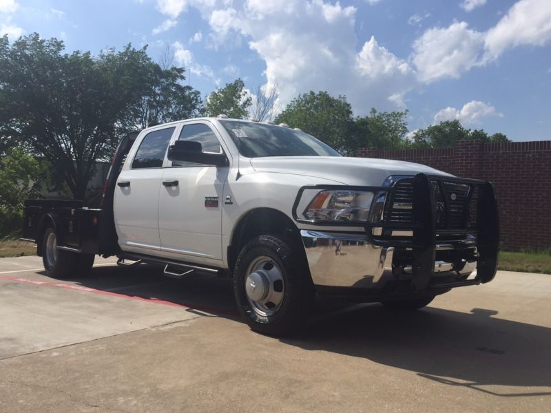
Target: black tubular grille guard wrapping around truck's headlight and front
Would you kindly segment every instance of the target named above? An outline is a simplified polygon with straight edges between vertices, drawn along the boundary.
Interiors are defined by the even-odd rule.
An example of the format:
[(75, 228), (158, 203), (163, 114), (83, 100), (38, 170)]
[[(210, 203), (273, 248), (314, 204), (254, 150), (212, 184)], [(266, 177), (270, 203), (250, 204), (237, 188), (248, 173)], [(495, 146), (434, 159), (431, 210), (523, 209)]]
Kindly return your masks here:
[[(411, 179), (411, 178), (409, 178)], [(454, 184), (476, 184), (479, 186), (479, 200), (477, 205), (477, 226), (470, 229), (449, 229), (436, 226), (436, 206), (431, 182), (452, 182)], [(398, 181), (399, 182), (399, 181)], [(341, 190), (341, 191), (370, 191), (375, 193), (368, 222), (359, 221), (314, 221), (299, 218), (298, 205), (302, 193), (309, 189), (315, 190)], [(460, 282), (438, 284), (438, 288), (452, 288), (490, 282), (497, 270), (497, 258), (499, 253), (499, 220), (497, 215), (497, 201), (495, 190), (491, 182), (466, 178), (453, 178), (448, 176), (427, 175), (417, 173), (413, 177), (413, 223), (372, 222), (373, 206), (378, 198), (377, 193), (395, 193), (396, 187), (354, 187), (343, 185), (312, 185), (302, 187), (298, 191), (293, 204), (293, 218), (301, 224), (316, 226), (353, 226), (364, 227), (366, 238), (371, 244), (382, 247), (412, 248), (414, 262), (412, 264), (413, 284), (415, 288), (422, 289), (430, 284), (430, 278), (434, 274), (436, 260), (437, 235), (461, 235), (472, 234), (477, 240), (477, 275), (474, 279)], [(387, 195), (388, 196), (388, 195)], [(449, 213), (449, 211), (448, 211)], [(381, 235), (373, 235), (373, 229), (380, 228)], [(391, 231), (413, 231), (412, 236), (392, 236)]]

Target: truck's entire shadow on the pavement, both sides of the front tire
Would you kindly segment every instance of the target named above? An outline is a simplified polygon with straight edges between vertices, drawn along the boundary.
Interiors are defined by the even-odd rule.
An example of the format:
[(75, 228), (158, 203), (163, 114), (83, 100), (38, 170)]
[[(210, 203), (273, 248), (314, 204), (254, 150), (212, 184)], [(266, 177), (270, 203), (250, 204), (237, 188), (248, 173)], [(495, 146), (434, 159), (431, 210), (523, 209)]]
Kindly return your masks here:
[[(238, 318), (228, 278), (171, 279), (154, 266), (106, 266), (94, 268), (77, 284)], [(460, 313), (428, 307), (401, 313), (370, 304), (340, 314), (337, 308), (318, 306), (318, 317), (299, 338), (280, 341), (304, 350), (368, 359), (438, 383), (497, 396), (551, 395), (551, 328), (499, 319), (497, 311), (483, 308)], [(497, 392), (488, 389), (492, 385), (514, 386), (519, 391)], [(528, 392), (525, 387), (545, 391)]]

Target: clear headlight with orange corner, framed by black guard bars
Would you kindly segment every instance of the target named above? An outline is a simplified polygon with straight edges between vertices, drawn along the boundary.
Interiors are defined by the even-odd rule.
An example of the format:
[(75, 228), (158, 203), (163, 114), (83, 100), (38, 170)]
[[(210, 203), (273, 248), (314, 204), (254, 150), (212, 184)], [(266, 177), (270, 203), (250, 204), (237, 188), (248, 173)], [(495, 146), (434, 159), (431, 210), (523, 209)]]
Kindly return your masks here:
[(314, 221), (367, 221), (373, 202), (373, 192), (320, 191), (302, 215)]

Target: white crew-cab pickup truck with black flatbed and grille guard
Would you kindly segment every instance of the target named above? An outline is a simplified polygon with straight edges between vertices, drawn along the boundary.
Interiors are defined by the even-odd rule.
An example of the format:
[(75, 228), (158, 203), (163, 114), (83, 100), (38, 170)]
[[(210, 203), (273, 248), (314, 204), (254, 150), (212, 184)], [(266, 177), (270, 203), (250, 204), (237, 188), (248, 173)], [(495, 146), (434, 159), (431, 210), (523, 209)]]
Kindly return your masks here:
[(227, 118), (121, 140), (101, 208), (28, 200), (24, 237), (48, 275), (159, 264), (233, 277), (253, 330), (296, 330), (316, 295), (416, 309), (489, 282), (498, 253), (492, 184), (424, 165), (346, 158), (299, 129)]

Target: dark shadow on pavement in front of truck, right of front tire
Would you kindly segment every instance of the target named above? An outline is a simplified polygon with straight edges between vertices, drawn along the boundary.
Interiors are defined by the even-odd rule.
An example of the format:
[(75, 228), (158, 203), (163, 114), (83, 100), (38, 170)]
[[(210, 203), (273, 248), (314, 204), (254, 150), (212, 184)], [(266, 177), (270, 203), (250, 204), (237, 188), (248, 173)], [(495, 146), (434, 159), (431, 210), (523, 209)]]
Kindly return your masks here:
[[(495, 315), (497, 311), (481, 308), (471, 313), (430, 307), (398, 313), (373, 304), (311, 324), (306, 339), (283, 341), (306, 350), (369, 359), (497, 396), (551, 395), (551, 328)], [(479, 387), (488, 385), (545, 387), (545, 391), (494, 392)]]

